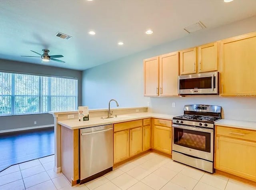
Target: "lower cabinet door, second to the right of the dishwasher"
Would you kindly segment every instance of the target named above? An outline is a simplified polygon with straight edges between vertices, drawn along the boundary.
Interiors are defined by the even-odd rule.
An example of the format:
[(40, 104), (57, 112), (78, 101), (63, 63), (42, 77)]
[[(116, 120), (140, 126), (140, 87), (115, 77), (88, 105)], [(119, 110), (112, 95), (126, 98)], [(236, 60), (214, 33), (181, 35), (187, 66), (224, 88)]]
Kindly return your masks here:
[(130, 130), (130, 156), (142, 152), (142, 127)]

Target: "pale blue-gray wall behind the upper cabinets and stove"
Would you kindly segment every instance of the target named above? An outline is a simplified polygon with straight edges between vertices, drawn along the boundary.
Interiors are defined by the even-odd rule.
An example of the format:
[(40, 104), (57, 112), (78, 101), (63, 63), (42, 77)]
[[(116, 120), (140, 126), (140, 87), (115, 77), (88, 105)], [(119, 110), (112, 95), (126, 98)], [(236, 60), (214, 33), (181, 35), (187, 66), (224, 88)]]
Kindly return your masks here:
[[(147, 106), (154, 112), (182, 114), (185, 104), (207, 103), (221, 105), (227, 119), (256, 121), (256, 98), (223, 98), (219, 96), (144, 97), (143, 59), (200, 46), (250, 32), (256, 32), (256, 16), (214, 29), (204, 29), (139, 53), (123, 57), (83, 71), (82, 105), (106, 108), (116, 99), (120, 107)], [(172, 107), (172, 102), (176, 107)], [(113, 107), (114, 107), (113, 103)]]

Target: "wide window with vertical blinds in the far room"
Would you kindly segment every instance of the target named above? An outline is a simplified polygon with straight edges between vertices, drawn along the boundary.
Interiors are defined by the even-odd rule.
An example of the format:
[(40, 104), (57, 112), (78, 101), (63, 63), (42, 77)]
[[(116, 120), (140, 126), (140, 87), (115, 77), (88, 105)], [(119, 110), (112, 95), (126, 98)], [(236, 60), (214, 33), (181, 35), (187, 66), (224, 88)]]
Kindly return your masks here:
[(77, 79), (0, 72), (0, 115), (77, 109)]

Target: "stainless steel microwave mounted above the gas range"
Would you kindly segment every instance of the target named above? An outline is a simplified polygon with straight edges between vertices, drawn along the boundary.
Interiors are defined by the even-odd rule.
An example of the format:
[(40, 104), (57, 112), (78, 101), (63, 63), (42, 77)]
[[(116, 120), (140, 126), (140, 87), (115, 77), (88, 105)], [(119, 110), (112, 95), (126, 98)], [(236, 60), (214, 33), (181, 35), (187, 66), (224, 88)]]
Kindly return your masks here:
[(179, 94), (218, 94), (219, 93), (219, 73), (199, 73), (179, 76)]

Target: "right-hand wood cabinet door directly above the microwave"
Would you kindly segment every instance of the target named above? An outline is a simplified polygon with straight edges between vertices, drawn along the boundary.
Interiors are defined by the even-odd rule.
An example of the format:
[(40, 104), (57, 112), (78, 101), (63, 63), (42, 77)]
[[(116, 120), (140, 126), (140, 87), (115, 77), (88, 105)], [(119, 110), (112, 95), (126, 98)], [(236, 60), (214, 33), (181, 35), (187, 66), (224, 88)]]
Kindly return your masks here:
[(198, 72), (218, 70), (218, 43), (206, 44), (198, 47)]

